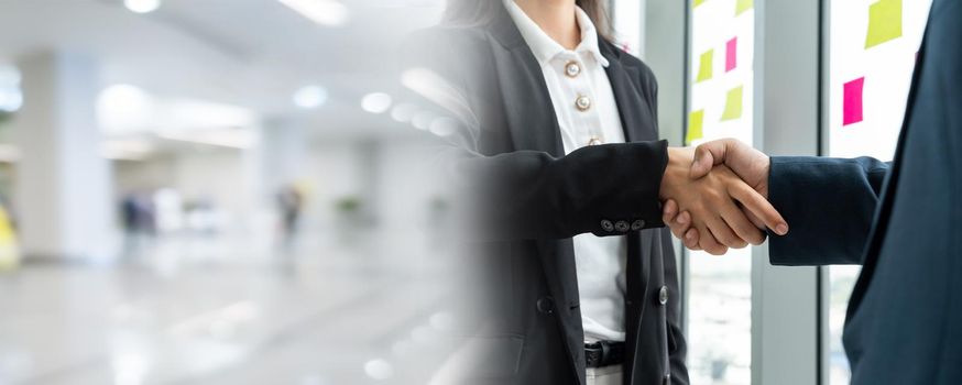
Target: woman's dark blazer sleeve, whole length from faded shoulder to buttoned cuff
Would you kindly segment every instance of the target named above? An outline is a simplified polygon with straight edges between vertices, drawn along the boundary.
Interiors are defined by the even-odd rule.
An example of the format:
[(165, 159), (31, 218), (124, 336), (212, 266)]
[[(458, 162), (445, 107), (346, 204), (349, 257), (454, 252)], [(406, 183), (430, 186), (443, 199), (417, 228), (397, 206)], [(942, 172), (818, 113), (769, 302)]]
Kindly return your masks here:
[[(453, 189), (455, 206), (466, 211), (459, 222), (470, 223), (460, 232), (468, 241), (623, 235), (664, 227), (659, 191), (667, 142), (595, 145), (564, 156), (492, 151), (483, 143), (510, 138), (504, 128), (485, 125), (492, 124), (488, 107), (500, 100), (485, 92), (491, 79), (472, 70), (492, 59), (490, 42), (470, 29), (427, 30), (415, 37), (405, 63), (438, 75), (431, 89), (442, 97), (431, 101), (453, 128), (436, 165)], [(437, 46), (459, 48), (452, 54)]]

